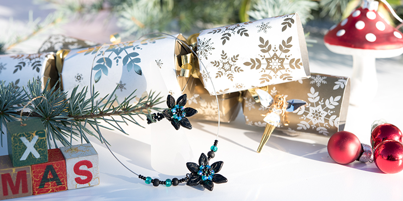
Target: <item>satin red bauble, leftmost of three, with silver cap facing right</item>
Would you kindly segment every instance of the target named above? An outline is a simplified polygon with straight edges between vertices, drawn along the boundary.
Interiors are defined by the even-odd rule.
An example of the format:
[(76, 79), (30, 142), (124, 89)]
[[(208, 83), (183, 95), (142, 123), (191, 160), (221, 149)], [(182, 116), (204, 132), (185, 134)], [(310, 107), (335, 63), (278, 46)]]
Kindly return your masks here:
[(331, 159), (340, 164), (348, 164), (357, 160), (361, 149), (357, 136), (347, 131), (335, 133), (327, 143), (327, 152)]

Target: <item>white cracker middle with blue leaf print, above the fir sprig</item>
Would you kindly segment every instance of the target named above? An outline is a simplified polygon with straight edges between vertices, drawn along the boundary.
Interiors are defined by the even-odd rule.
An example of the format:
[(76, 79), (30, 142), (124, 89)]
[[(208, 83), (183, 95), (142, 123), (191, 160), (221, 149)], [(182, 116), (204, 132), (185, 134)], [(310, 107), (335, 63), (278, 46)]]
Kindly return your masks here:
[[(82, 90), (94, 85), (99, 97), (104, 97), (117, 87), (118, 100), (135, 89), (134, 95), (138, 97), (150, 90), (161, 94), (167, 94), (168, 89), (180, 91), (177, 82), (164, 84), (165, 77), (176, 77), (176, 44), (172, 37), (159, 37), (73, 49), (64, 58), (60, 72), (63, 90), (71, 92), (76, 86)], [(87, 95), (89, 93), (90, 89)]]

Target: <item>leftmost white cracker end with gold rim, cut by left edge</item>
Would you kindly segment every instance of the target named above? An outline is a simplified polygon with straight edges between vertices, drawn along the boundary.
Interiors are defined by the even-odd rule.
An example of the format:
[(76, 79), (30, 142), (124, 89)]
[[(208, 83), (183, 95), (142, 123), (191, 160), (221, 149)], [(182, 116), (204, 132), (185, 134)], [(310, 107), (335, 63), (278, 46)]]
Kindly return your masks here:
[(28, 81), (37, 80), (44, 84), (50, 78), (49, 87), (58, 78), (54, 53), (8, 54), (0, 56), (0, 80), (15, 87), (27, 86)]

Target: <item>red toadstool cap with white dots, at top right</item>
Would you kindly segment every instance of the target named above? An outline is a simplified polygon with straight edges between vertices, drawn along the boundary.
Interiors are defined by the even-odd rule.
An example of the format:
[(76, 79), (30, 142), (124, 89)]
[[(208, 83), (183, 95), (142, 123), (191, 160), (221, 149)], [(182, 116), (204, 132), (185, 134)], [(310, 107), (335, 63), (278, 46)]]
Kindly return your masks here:
[(330, 28), (323, 38), (327, 48), (339, 54), (365, 53), (376, 58), (402, 54), (403, 34), (391, 27), (376, 10), (377, 7), (359, 8), (337, 26)]

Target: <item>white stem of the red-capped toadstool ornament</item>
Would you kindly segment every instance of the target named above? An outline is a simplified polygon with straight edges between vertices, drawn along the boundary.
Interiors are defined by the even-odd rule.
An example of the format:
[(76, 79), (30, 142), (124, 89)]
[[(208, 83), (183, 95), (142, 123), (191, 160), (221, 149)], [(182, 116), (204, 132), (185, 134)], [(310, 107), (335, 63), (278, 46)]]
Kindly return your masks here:
[(350, 104), (359, 106), (371, 101), (377, 89), (375, 57), (365, 54), (353, 55)]

